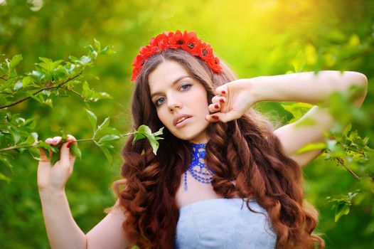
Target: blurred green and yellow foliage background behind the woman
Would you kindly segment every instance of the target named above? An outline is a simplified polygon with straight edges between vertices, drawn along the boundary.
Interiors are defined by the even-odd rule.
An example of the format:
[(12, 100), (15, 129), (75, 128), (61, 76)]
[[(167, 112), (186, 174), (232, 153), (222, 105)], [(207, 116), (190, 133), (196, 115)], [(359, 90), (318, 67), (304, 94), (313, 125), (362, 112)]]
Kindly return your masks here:
[[(108, 115), (111, 125), (130, 130), (131, 64), (140, 46), (163, 31), (196, 31), (210, 43), (240, 78), (308, 70), (357, 70), (369, 79), (363, 110), (373, 120), (374, 1), (16, 1), (0, 0), (0, 54), (21, 53), (18, 67), (33, 69), (38, 57), (53, 60), (80, 56), (96, 38), (114, 46), (114, 55), (98, 58), (88, 80), (112, 100), (90, 107), (99, 120)], [(85, 104), (72, 95), (54, 102), (53, 109), (28, 100), (13, 107), (21, 117), (36, 117), (41, 139), (65, 132), (77, 139), (91, 136)], [(269, 110), (267, 110), (269, 112)], [(282, 118), (285, 113), (270, 115)], [(373, 126), (356, 127), (363, 137), (373, 136)], [(82, 231), (90, 231), (114, 203), (112, 181), (118, 179), (122, 158), (117, 144), (114, 164), (108, 164), (98, 147), (80, 144), (66, 191), (70, 208)], [(370, 147), (373, 141), (370, 141)], [(36, 186), (37, 161), (21, 154), (11, 182), (0, 181), (0, 248), (49, 248)], [(331, 161), (316, 159), (304, 169), (306, 198), (320, 211), (317, 228), (327, 248), (373, 248), (374, 198), (351, 207), (351, 213), (334, 222), (327, 196), (355, 191), (354, 179)]]

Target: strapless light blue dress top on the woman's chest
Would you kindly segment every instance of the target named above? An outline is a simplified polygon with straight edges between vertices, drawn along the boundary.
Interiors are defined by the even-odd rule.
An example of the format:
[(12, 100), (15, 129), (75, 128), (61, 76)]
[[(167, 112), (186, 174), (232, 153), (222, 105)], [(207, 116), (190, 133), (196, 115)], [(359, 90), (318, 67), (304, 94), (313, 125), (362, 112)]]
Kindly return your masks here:
[(273, 249), (277, 236), (267, 212), (255, 200), (250, 211), (242, 198), (213, 198), (179, 210), (178, 249)]

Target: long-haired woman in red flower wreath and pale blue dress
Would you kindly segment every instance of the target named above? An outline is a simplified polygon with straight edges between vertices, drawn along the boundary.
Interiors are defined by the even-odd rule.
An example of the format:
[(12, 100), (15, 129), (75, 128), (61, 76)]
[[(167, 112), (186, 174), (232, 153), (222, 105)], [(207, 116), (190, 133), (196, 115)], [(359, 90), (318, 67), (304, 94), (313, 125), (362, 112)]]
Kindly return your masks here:
[[(260, 101), (317, 105), (352, 85), (364, 89), (352, 102), (360, 106), (365, 75), (321, 71), (236, 80), (208, 43), (186, 31), (152, 38), (133, 66), (133, 127), (165, 127), (159, 151), (129, 138), (123, 179), (114, 183), (118, 201), (87, 235), (64, 191), (75, 138), (69, 136), (54, 166), (41, 151), (38, 188), (52, 248), (324, 248), (313, 233), (317, 212), (301, 186), (301, 167), (321, 151), (297, 151), (324, 141), (331, 116), (314, 106), (274, 130), (251, 107)], [(306, 119), (313, 124), (298, 125)]]

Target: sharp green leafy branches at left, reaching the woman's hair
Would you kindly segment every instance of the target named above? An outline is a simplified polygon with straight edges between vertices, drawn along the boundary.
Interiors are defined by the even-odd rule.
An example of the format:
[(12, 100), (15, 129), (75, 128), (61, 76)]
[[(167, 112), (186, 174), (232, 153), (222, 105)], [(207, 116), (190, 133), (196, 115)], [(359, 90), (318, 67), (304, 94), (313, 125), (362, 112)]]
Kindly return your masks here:
[[(42, 105), (53, 108), (53, 98), (68, 97), (69, 93), (78, 95), (84, 102), (97, 102), (102, 99), (112, 98), (107, 92), (96, 92), (85, 80), (85, 70), (95, 65), (98, 55), (114, 53), (112, 46), (101, 47), (100, 42), (94, 40), (94, 44), (87, 46), (88, 53), (80, 58), (69, 56), (69, 60), (52, 60), (42, 58), (41, 62), (35, 64), (34, 70), (30, 73), (18, 74), (16, 68), (22, 61), (22, 55), (14, 55), (11, 59), (5, 59), (0, 63), (0, 164), (12, 172), (14, 159), (11, 152), (29, 152), (34, 159), (38, 159), (38, 148), (51, 150), (52, 163), (60, 157), (60, 147), (66, 141), (67, 135), (62, 131), (62, 142), (53, 147), (43, 141), (38, 141), (38, 134), (34, 132), (36, 120), (31, 117), (25, 119), (18, 113), (12, 113), (10, 108), (26, 102), (36, 100)], [(81, 90), (77, 90), (81, 85)], [(162, 129), (152, 133), (149, 127), (141, 125), (137, 131), (127, 134), (120, 134), (117, 129), (109, 127), (109, 117), (97, 125), (96, 115), (87, 110), (90, 123), (92, 124), (93, 135), (90, 139), (80, 139), (77, 142), (92, 141), (102, 152), (108, 161), (112, 163), (112, 154), (115, 140), (134, 134), (134, 143), (139, 139), (148, 139), (156, 154), (159, 148)], [(70, 147), (76, 157), (81, 157), (80, 149), (76, 144)], [(46, 153), (49, 155), (49, 153)], [(4, 171), (0, 171), (0, 181), (10, 181)]]

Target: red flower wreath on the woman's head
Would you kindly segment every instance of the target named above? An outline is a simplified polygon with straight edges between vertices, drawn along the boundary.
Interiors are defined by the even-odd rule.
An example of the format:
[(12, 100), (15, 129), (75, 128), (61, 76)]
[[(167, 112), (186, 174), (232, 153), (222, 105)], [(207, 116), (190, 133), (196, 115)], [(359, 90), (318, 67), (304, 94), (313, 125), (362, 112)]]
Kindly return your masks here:
[(213, 49), (210, 47), (209, 43), (204, 43), (197, 38), (195, 32), (176, 31), (161, 33), (158, 36), (151, 38), (149, 45), (141, 47), (140, 53), (134, 58), (134, 63), (132, 66), (132, 78), (134, 81), (137, 79), (141, 68), (143, 68), (144, 63), (149, 57), (164, 51), (166, 49), (183, 49), (191, 55), (200, 57), (205, 63), (208, 64), (215, 73), (222, 73), (222, 67), (220, 66), (220, 60), (213, 55)]

